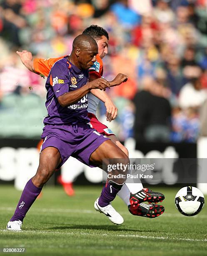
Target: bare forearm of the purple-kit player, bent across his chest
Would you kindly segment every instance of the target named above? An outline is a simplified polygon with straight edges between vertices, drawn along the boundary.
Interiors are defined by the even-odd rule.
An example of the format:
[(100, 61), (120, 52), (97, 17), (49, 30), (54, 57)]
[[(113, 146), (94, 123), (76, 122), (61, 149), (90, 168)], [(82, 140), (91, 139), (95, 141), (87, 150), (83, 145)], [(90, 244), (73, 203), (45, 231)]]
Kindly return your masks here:
[(80, 89), (77, 89), (72, 92), (67, 92), (57, 98), (58, 102), (62, 107), (67, 107), (74, 103), (77, 103), (82, 97), (84, 97), (88, 92), (90, 92), (91, 87), (90, 83), (84, 85)]

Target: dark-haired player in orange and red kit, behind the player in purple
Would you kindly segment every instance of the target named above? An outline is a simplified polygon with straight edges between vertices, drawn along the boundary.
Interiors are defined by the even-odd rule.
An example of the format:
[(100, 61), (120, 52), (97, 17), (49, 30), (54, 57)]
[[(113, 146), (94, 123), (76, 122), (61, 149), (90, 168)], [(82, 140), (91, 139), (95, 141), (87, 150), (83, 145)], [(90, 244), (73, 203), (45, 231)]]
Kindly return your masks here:
[[(97, 78), (102, 77), (103, 75), (103, 62), (102, 59), (107, 54), (108, 50), (108, 40), (109, 35), (107, 31), (99, 27), (97, 25), (91, 25), (87, 27), (82, 34), (91, 36), (98, 45), (98, 54), (96, 55), (96, 61), (92, 67), (89, 69), (89, 81), (93, 81)], [(59, 59), (64, 58), (65, 56), (60, 56), (58, 58), (48, 58), (41, 59), (35, 58), (32, 60), (32, 53), (29, 51), (22, 50), (17, 51), (17, 54), (20, 56), (22, 63), (29, 69), (31, 72), (44, 75), (48, 77), (50, 73), (50, 69), (53, 64)], [(118, 74), (115, 79), (110, 82), (110, 86), (117, 86), (121, 83), (120, 78), (123, 74)], [(119, 148), (124, 151), (124, 153), (128, 156), (127, 148), (125, 148), (122, 143), (118, 140), (115, 134), (108, 129), (106, 125), (101, 123), (96, 117), (96, 110), (100, 100), (105, 103), (107, 110), (107, 120), (109, 122), (116, 118), (117, 109), (112, 102), (112, 99), (104, 92), (103, 90), (91, 90), (90, 93), (87, 94), (87, 103), (88, 103), (88, 117), (90, 118), (90, 126), (94, 128), (99, 133), (109, 137)], [(109, 117), (110, 115), (110, 117)], [(110, 131), (110, 133), (108, 133)], [(73, 163), (74, 158), (69, 158), (67, 160), (67, 164)], [(63, 171), (63, 170), (62, 170)], [(67, 183), (69, 180), (72, 181), (71, 176), (74, 178), (77, 175), (77, 170), (67, 170), (67, 173), (64, 170), (64, 177), (66, 177), (66, 182), (63, 183), (63, 187), (65, 192), (68, 195), (68, 189), (71, 188), (71, 184)], [(69, 180), (68, 180), (68, 177)], [(70, 191), (71, 192), (71, 191)], [(117, 193), (117, 195), (125, 202), (128, 207), (128, 210), (131, 214), (137, 216), (143, 216), (146, 218), (157, 218), (160, 216), (160, 211), (157, 213), (157, 208), (162, 206), (153, 205), (151, 203), (162, 202), (165, 199), (165, 196), (160, 192), (154, 192), (148, 188), (143, 188), (141, 181), (137, 181), (137, 183), (129, 183), (128, 180), (122, 186), (122, 189)], [(149, 202), (149, 205), (142, 204), (142, 202)], [(97, 208), (97, 200), (95, 201), (94, 207)], [(162, 211), (161, 213), (163, 213)]]

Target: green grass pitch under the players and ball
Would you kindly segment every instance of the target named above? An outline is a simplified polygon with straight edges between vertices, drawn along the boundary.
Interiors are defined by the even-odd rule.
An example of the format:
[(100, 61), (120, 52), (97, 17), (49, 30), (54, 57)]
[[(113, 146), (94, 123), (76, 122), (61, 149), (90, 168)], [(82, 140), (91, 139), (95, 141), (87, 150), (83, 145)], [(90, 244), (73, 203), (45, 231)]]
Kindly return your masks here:
[(101, 187), (75, 187), (76, 195), (67, 197), (61, 187), (48, 186), (27, 213), (22, 231), (12, 232), (5, 228), (21, 192), (1, 185), (0, 248), (26, 248), (23, 255), (207, 255), (207, 206), (199, 215), (185, 217), (174, 204), (178, 188), (156, 190), (166, 196), (162, 216), (130, 215), (117, 197), (113, 206), (125, 222), (114, 225), (93, 208)]

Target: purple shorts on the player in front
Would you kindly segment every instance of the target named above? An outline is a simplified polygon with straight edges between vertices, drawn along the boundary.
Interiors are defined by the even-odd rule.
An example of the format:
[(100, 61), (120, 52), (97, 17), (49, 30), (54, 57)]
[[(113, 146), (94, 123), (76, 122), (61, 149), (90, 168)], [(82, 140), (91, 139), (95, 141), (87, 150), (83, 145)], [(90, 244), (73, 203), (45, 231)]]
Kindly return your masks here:
[(97, 165), (90, 162), (90, 155), (109, 138), (98, 133), (90, 125), (45, 125), (41, 138), (44, 140), (40, 152), (47, 147), (57, 148), (60, 152), (62, 166), (70, 156), (90, 167)]

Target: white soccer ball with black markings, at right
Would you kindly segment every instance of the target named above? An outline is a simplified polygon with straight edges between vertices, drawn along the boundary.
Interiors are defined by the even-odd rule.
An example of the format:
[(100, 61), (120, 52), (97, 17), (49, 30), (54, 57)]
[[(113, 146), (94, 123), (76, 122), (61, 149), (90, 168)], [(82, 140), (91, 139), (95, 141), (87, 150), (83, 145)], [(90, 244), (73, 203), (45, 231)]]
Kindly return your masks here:
[(204, 202), (204, 195), (197, 187), (182, 187), (175, 196), (175, 206), (185, 216), (198, 214)]

